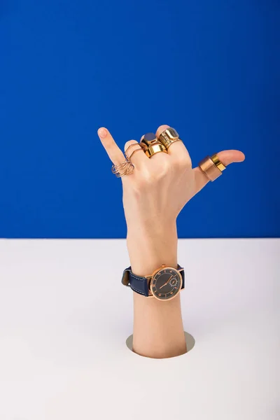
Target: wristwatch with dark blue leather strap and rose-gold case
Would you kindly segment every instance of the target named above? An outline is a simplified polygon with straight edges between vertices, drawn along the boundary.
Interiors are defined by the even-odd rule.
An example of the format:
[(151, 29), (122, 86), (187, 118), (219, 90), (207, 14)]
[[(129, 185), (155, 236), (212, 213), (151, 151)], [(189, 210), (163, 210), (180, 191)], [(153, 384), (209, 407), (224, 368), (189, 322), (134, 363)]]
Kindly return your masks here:
[(151, 276), (141, 277), (133, 274), (131, 267), (128, 267), (123, 272), (122, 283), (140, 295), (171, 300), (185, 288), (185, 272), (180, 265), (175, 269), (163, 264)]

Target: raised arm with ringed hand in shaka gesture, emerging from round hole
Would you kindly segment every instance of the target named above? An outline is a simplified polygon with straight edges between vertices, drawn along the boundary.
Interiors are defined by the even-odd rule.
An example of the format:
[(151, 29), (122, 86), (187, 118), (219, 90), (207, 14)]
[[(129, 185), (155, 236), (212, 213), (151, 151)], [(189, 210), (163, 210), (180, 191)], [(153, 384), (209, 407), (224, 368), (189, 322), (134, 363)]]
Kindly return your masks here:
[[(176, 218), (181, 209), (209, 180), (220, 176), (227, 165), (244, 160), (244, 153), (223, 151), (204, 159), (203, 167), (201, 164), (193, 168), (183, 141), (169, 125), (161, 125), (155, 134), (145, 134), (140, 144), (135, 140), (127, 141), (125, 155), (104, 127), (99, 129), (99, 137), (113, 162), (113, 172), (123, 181), (132, 271), (146, 277), (161, 265), (177, 268)], [(167, 274), (162, 267), (155, 276), (162, 270)], [(170, 269), (171, 273), (174, 271)], [(178, 279), (181, 280), (179, 274)], [(179, 293), (175, 286), (178, 279), (167, 278), (167, 283), (175, 281), (176, 293)], [(152, 290), (153, 295), (158, 293), (160, 298), (162, 294), (155, 284)], [(164, 293), (162, 301), (134, 294), (135, 352), (155, 358), (186, 352), (180, 296), (174, 293), (174, 297), (172, 293), (170, 290), (168, 297)], [(144, 294), (147, 295), (146, 289)]]

